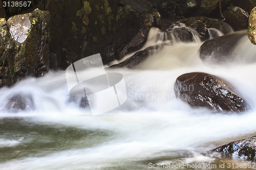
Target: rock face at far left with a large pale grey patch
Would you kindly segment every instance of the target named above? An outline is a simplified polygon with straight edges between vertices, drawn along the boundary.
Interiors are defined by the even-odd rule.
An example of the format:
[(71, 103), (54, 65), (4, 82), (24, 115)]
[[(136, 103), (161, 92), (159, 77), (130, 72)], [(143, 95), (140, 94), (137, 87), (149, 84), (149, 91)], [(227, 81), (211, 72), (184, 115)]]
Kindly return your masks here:
[(49, 12), (38, 9), (0, 20), (0, 86), (48, 71), (49, 20)]

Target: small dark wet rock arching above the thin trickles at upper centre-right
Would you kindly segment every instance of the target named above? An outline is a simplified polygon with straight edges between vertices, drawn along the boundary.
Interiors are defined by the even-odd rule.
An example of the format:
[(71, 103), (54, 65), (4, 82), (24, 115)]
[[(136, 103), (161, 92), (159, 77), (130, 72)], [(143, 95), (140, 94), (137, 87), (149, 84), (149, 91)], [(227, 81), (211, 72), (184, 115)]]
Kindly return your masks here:
[(209, 38), (207, 26), (201, 20), (194, 17), (190, 17), (182, 19), (181, 22), (185, 23), (187, 27), (194, 28), (198, 32), (201, 40), (206, 40)]

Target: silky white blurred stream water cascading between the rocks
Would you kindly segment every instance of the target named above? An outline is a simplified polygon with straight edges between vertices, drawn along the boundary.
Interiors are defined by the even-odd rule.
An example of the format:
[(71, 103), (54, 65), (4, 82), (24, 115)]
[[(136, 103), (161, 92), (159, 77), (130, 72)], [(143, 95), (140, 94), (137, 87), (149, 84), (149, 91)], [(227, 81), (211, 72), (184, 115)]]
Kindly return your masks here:
[[(199, 58), (202, 42), (197, 35), (193, 34), (192, 42), (172, 41), (166, 37), (175, 34), (168, 35), (172, 34), (152, 29), (143, 48), (157, 44), (164, 44), (163, 47), (136, 69), (115, 70), (124, 75), (128, 99), (107, 114), (91, 116), (89, 109), (69, 102), (65, 72), (61, 71), (1, 88), (0, 167), (147, 169), (153, 165), (185, 163), (201, 165), (194, 169), (202, 169), (203, 165), (208, 166), (205, 169), (220, 169), (220, 163), (230, 162), (208, 151), (255, 134), (256, 63), (205, 65)], [(254, 61), (255, 47), (246, 35), (234, 47), (233, 55), (240, 55), (238, 51), (243, 51), (240, 59)], [(216, 113), (191, 108), (176, 99), (176, 78), (192, 71), (226, 79), (239, 90), (251, 110)], [(35, 110), (8, 112), (8, 99), (15, 93), (32, 95)]]

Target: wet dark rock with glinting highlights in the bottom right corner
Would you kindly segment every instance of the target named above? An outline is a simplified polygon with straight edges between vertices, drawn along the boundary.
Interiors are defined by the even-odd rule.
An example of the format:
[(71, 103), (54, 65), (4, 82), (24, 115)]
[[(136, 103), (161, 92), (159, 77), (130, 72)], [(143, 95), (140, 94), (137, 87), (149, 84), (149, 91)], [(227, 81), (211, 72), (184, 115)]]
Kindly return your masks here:
[(256, 161), (256, 136), (251, 138), (238, 140), (225, 144), (215, 150), (214, 152), (223, 153), (228, 157), (246, 157), (246, 160)]

